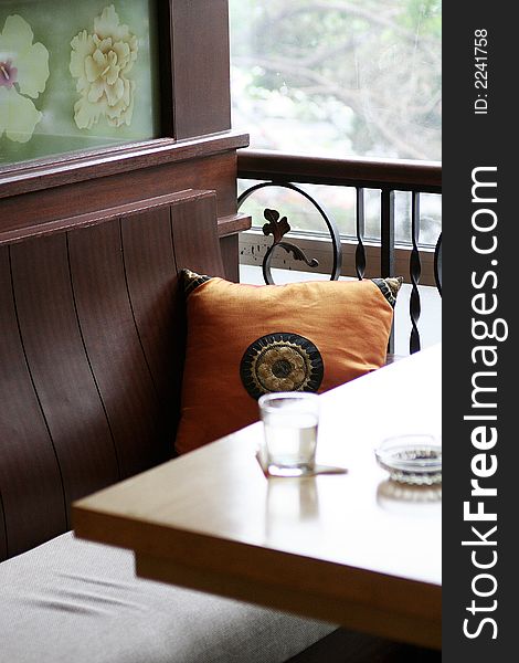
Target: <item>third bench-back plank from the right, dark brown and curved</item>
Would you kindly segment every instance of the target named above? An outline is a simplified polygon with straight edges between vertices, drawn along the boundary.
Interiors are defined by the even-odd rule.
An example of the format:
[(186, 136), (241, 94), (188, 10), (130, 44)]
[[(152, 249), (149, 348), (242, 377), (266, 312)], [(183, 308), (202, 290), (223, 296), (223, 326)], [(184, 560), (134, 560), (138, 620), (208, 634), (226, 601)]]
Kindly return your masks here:
[(68, 233), (80, 325), (123, 476), (157, 462), (158, 396), (128, 296), (119, 220)]

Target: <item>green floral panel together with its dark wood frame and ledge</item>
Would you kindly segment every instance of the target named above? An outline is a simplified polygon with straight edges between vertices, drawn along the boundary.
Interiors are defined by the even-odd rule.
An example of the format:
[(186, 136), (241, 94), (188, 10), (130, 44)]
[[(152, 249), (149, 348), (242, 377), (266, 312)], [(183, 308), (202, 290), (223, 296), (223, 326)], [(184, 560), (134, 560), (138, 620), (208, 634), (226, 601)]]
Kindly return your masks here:
[(229, 69), (227, 0), (0, 0), (0, 252), (187, 189), (232, 220)]

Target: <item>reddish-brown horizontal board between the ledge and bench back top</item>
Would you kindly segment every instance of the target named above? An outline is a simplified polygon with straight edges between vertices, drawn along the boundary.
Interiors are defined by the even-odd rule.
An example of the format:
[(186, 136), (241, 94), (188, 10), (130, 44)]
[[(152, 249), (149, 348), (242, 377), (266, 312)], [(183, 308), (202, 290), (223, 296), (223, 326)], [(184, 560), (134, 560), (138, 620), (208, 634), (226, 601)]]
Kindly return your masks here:
[(0, 200), (0, 243), (33, 234), (38, 227), (44, 232), (60, 219), (187, 189), (215, 190), (219, 217), (234, 214), (235, 169), (236, 155), (226, 152), (6, 198)]

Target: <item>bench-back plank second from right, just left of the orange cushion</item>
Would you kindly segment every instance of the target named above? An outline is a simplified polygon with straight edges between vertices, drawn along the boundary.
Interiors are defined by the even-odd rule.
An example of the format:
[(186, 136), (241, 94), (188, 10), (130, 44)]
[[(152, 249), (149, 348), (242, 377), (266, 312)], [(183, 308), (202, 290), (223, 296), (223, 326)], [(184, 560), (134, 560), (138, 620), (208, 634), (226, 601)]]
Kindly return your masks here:
[(140, 343), (160, 394), (160, 443), (171, 455), (179, 417), (186, 319), (171, 238), (170, 208), (123, 220), (123, 255)]

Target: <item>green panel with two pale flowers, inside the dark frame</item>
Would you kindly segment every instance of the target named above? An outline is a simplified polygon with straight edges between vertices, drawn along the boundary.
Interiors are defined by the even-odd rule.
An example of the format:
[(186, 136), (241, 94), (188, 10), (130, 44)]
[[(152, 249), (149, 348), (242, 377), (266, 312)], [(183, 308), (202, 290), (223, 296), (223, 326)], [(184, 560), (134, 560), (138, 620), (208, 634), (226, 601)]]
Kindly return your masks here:
[(160, 135), (156, 0), (0, 0), (0, 165)]

